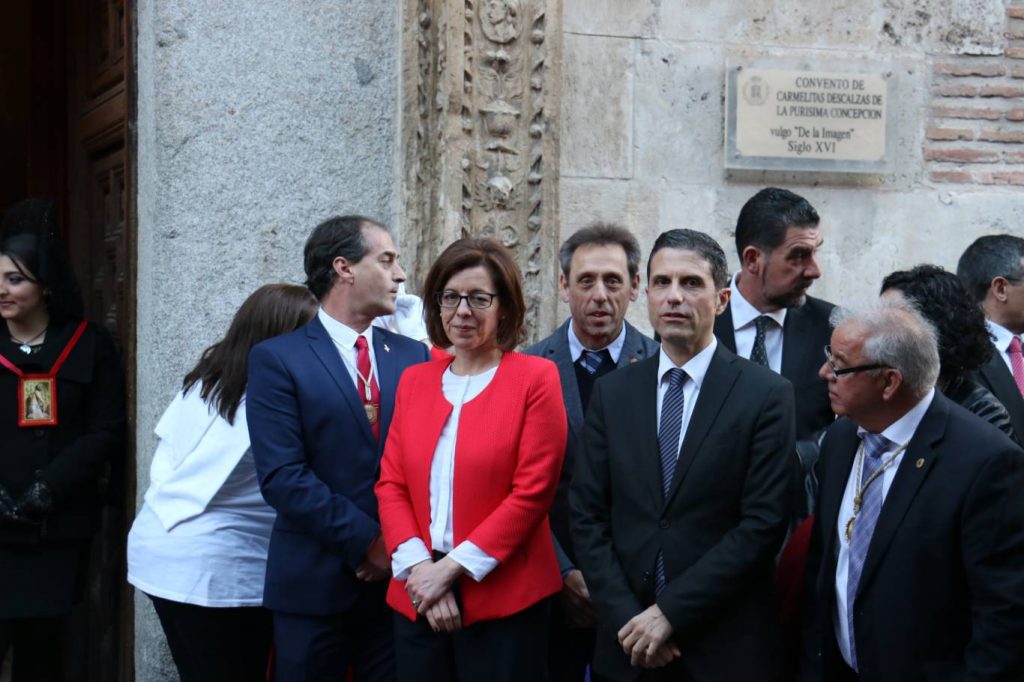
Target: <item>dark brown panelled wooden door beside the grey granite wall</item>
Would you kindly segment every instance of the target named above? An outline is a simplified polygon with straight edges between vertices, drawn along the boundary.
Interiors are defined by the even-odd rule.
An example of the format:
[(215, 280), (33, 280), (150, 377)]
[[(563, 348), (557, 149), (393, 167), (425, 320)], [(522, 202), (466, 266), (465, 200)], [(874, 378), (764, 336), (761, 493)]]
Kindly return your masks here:
[[(133, 84), (131, 6), (126, 0), (67, 2), (68, 249), (86, 315), (113, 334), (128, 377), (128, 433), (134, 433), (133, 172), (129, 141)], [(129, 437), (129, 441), (133, 438)], [(124, 539), (134, 516), (134, 449), (111, 471), (111, 505), (93, 543), (88, 597), (77, 614), (76, 679), (132, 678), (131, 592)]]

